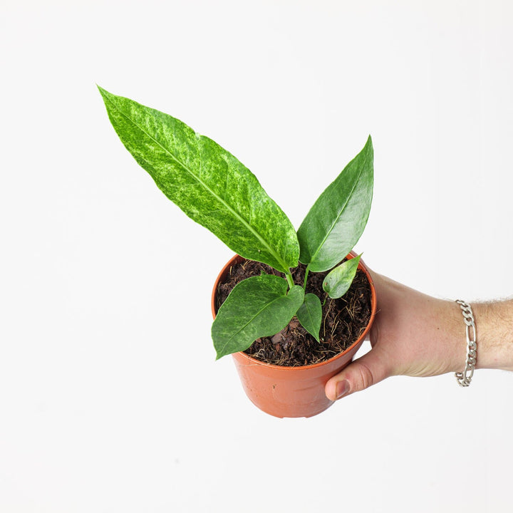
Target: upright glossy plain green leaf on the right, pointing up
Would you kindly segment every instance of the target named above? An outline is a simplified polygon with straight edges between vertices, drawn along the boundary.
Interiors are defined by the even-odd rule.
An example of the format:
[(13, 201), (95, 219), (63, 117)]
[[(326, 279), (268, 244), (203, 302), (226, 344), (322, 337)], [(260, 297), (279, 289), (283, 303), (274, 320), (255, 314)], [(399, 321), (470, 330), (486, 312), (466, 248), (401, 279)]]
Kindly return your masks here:
[(299, 260), (331, 269), (353, 249), (367, 224), (373, 192), (373, 146), (365, 147), (318, 197), (298, 230)]

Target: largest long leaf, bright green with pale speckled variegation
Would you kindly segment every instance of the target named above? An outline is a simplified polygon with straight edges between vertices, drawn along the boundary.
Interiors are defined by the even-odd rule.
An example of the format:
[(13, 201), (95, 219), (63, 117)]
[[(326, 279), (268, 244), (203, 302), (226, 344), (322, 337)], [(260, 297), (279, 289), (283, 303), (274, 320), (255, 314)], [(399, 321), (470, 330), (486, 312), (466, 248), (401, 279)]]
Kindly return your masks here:
[(242, 257), (297, 266), (294, 227), (237, 158), (170, 115), (99, 90), (127, 150), (185, 214)]

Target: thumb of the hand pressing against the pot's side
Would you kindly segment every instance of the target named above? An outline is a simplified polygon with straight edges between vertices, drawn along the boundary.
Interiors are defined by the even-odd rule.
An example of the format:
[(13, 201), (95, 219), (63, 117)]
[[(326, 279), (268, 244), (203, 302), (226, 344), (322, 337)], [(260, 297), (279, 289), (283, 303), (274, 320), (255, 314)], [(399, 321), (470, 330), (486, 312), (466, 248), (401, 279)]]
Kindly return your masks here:
[(330, 378), (324, 391), (328, 399), (337, 400), (353, 392), (364, 390), (390, 375), (385, 359), (380, 358), (379, 348), (375, 347)]

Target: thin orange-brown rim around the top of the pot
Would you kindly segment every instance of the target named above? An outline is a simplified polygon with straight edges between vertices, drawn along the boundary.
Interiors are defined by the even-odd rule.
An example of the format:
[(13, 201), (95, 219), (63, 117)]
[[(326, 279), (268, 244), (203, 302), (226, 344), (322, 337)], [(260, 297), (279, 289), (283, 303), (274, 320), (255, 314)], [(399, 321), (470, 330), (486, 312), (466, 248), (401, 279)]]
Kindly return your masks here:
[[(351, 251), (347, 255), (347, 257), (350, 257), (350, 258), (354, 258), (356, 256), (357, 256), (357, 254), (355, 252), (353, 252), (353, 251)], [(221, 269), (221, 271), (217, 275), (217, 279), (214, 282), (214, 289), (212, 289), (212, 299), (211, 299), (212, 316), (214, 318), (215, 318), (216, 313), (217, 313), (216, 312), (216, 307), (215, 307), (215, 302), (216, 302), (216, 299), (217, 299), (217, 285), (219, 284), (219, 281), (221, 281), (222, 275), (228, 269), (228, 267), (233, 265), (233, 264), (235, 264), (237, 261), (241, 261), (241, 260), (247, 260), (247, 259), (245, 259), (244, 257), (241, 257), (239, 254), (235, 254), (231, 259), (229, 259), (229, 261), (227, 261), (227, 263), (223, 266), (223, 268)], [(369, 285), (371, 286), (371, 318), (369, 319), (369, 321), (367, 323), (367, 326), (366, 326), (365, 330), (363, 330), (363, 333), (361, 334), (361, 336), (359, 336), (356, 339), (356, 341), (354, 341), (351, 344), (351, 346), (346, 348), (345, 351), (343, 351), (342, 353), (338, 353), (338, 355), (333, 356), (329, 360), (321, 361), (321, 362), (318, 362), (318, 363), (312, 363), (311, 365), (308, 365), (308, 366), (296, 366), (296, 367), (277, 366), (274, 363), (266, 363), (266, 362), (257, 360), (256, 358), (252, 358), (248, 354), (244, 353), (244, 351), (239, 351), (237, 353), (232, 353), (232, 356), (239, 355), (242, 358), (247, 359), (247, 361), (249, 363), (253, 364), (253, 365), (261, 365), (261, 366), (265, 366), (265, 367), (268, 367), (268, 368), (276, 368), (276, 369), (279, 369), (281, 371), (301, 371), (301, 370), (304, 370), (304, 369), (318, 368), (318, 367), (326, 366), (329, 363), (332, 363), (332, 362), (338, 360), (338, 358), (341, 358), (342, 356), (347, 354), (349, 351), (351, 351), (354, 348), (354, 346), (356, 346), (357, 344), (359, 344), (359, 343), (361, 343), (362, 341), (365, 340), (368, 332), (371, 330), (371, 326), (373, 324), (374, 317), (375, 317), (375, 314), (376, 314), (376, 311), (377, 311), (377, 305), (378, 305), (378, 303), (376, 301), (376, 292), (375, 292), (374, 281), (373, 281), (372, 276), (369, 273), (366, 265), (363, 263), (362, 259), (360, 259), (360, 261), (358, 262), (358, 269), (361, 269), (366, 274), (368, 282), (369, 282)]]

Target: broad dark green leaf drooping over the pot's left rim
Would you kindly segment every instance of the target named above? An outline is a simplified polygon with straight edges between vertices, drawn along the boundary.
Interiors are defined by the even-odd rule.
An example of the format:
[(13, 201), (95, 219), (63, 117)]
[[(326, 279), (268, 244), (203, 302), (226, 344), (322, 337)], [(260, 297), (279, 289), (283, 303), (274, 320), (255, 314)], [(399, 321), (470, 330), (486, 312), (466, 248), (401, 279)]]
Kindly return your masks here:
[(257, 338), (281, 331), (304, 299), (299, 285), (294, 285), (288, 295), (286, 291), (286, 281), (274, 274), (253, 276), (237, 284), (212, 324), (217, 359), (244, 351)]

